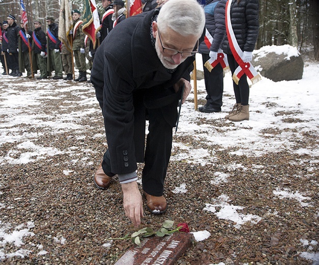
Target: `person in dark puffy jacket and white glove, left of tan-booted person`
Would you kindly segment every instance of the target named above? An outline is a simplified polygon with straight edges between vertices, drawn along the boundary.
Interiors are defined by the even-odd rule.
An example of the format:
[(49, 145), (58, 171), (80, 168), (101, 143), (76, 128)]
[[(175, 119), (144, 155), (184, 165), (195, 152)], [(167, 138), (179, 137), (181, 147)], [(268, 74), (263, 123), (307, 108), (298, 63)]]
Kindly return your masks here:
[[(225, 37), (225, 6), (227, 0), (207, 0), (204, 7), (206, 17), (206, 29), (213, 37), (211, 46), (208, 47), (205, 41), (199, 45), (199, 52), (202, 62), (205, 64), (210, 58), (217, 59), (217, 52)], [(200, 112), (212, 113), (220, 112), (223, 104), (222, 96), (224, 89), (223, 68), (217, 64), (210, 72), (204, 66), (205, 88), (207, 91), (206, 104), (199, 107)]]

